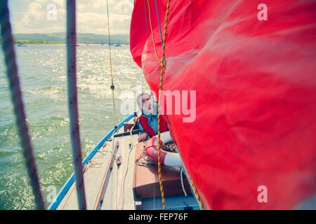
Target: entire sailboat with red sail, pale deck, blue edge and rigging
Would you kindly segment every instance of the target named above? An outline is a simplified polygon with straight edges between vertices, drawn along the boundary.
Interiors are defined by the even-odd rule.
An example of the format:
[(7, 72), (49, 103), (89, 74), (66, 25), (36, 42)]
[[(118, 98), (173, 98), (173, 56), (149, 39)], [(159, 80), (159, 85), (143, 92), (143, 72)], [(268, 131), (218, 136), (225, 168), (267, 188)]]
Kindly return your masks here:
[[(316, 201), (315, 1), (134, 1), (131, 55), (159, 96), (159, 113), (168, 106), (161, 101), (163, 90), (178, 91), (187, 103), (180, 113), (162, 114), (180, 167), (162, 156), (165, 132), (138, 142), (138, 111), (105, 134), (84, 159), (83, 171), (77, 160), (75, 2), (67, 7), (75, 172), (48, 209), (295, 209)], [(1, 27), (9, 21), (4, 15)], [(11, 37), (4, 40), (12, 43)], [(16, 66), (8, 69), (12, 80), (17, 74)], [(13, 98), (20, 100), (13, 102), (21, 108), (15, 90)], [(183, 111), (188, 105), (195, 111), (190, 120)], [(25, 116), (20, 111), (17, 118)], [(25, 117), (17, 120), (27, 140), (22, 146), (28, 146)], [(157, 163), (150, 147), (160, 152)], [(39, 178), (30, 169), (36, 168), (32, 147), (25, 148), (37, 207), (43, 209)]]

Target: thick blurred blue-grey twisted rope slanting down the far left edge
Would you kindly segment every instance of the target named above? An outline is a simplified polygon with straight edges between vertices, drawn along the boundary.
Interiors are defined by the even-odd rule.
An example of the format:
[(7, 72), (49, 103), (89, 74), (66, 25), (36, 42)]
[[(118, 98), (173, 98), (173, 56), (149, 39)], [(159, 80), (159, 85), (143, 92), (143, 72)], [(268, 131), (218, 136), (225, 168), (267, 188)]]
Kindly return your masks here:
[(4, 50), (4, 58), (7, 68), (7, 76), (9, 80), (11, 98), (13, 102), (13, 110), (15, 113), (15, 122), (18, 127), (18, 134), (22, 146), (23, 156), (26, 161), (27, 174), (32, 186), (34, 200), (37, 209), (45, 209), (39, 176), (37, 173), (37, 165), (34, 158), (33, 147), (29, 136), (29, 127), (27, 125), (24, 104), (22, 101), (22, 92), (20, 89), (20, 80), (18, 76), (18, 66), (16, 64), (14, 41), (12, 36), (10, 14), (8, 10), (8, 0), (0, 1), (0, 24), (2, 49)]

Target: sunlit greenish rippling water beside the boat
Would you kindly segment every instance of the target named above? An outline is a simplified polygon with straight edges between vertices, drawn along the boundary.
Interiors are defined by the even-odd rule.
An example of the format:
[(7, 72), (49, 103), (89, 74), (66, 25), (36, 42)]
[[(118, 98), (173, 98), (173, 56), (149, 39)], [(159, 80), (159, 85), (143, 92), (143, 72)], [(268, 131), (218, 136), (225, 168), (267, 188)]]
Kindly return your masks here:
[[(46, 205), (48, 187), (60, 190), (72, 173), (72, 155), (67, 109), (65, 45), (28, 45), (15, 48), (22, 94), (32, 144)], [(129, 45), (112, 48), (117, 111), (142, 86), (141, 69), (129, 52)], [(112, 92), (107, 45), (77, 48), (79, 122), (84, 157), (113, 127)], [(146, 87), (144, 87), (146, 88)], [(125, 116), (117, 112), (118, 120)], [(34, 209), (32, 190), (15, 129), (15, 118), (4, 55), (0, 52), (0, 209)]]

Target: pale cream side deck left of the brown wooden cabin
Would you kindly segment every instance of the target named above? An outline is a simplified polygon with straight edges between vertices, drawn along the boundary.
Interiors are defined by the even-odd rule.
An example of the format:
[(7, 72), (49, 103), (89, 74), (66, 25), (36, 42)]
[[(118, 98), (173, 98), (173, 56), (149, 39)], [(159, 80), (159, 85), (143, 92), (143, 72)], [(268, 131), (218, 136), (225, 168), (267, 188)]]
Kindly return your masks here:
[[(124, 127), (121, 127), (116, 134), (124, 132)], [(114, 144), (119, 143), (117, 155), (115, 156), (112, 174), (108, 182), (105, 199), (101, 209), (135, 209), (133, 200), (133, 155), (135, 146), (138, 144), (138, 134), (133, 134), (132, 137), (116, 137)], [(111, 140), (111, 139), (109, 139)], [(101, 183), (105, 176), (107, 166), (113, 150), (113, 141), (106, 141), (102, 148), (94, 155), (93, 159), (88, 162), (84, 168), (84, 186), (86, 191), (87, 209), (93, 209)], [(131, 149), (129, 143), (132, 143)], [(121, 165), (117, 166), (117, 158), (121, 155)], [(129, 157), (131, 157), (129, 159)], [(124, 188), (122, 188), (124, 186)], [(123, 197), (124, 195), (124, 197)], [(116, 197), (116, 198), (115, 198)], [(73, 183), (65, 197), (60, 202), (58, 210), (77, 210), (77, 190), (76, 183)]]

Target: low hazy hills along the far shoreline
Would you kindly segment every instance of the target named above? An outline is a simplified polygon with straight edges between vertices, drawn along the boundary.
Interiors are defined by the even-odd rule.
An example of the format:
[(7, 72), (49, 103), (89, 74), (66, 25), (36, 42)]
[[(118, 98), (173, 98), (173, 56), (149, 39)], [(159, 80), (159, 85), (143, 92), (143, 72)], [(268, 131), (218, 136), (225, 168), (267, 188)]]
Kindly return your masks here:
[[(52, 34), (13, 34), (16, 42), (25, 43), (65, 43), (65, 33)], [(129, 34), (112, 34), (113, 44), (129, 44)], [(108, 36), (102, 34), (77, 34), (78, 43), (108, 43)]]

